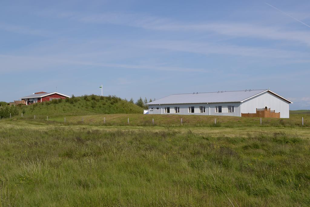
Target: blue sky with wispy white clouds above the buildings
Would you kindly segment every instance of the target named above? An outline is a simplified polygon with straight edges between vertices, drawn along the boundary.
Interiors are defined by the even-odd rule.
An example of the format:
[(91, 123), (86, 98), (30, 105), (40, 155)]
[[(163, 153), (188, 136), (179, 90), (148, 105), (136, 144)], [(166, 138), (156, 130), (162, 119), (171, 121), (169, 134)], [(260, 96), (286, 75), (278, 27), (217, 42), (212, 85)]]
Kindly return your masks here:
[(0, 101), (268, 89), (310, 109), (310, 2), (1, 1)]

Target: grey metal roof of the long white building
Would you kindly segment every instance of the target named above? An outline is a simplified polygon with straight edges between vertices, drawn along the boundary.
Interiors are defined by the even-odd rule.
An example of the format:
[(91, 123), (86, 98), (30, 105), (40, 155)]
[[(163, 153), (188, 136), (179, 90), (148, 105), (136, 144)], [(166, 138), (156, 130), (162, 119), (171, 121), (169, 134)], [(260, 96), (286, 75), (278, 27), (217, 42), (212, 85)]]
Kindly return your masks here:
[[(172, 94), (160, 98), (156, 101), (149, 102), (148, 105), (158, 104), (188, 104), (188, 103), (223, 103), (223, 102), (242, 102), (251, 97), (257, 96), (263, 92), (271, 92), (268, 89), (263, 90), (243, 90), (243, 91), (218, 91), (205, 93), (182, 93)], [(271, 92), (276, 96), (286, 100), (285, 98)], [(288, 101), (288, 100), (286, 100)], [(288, 101), (291, 103), (291, 101)]]

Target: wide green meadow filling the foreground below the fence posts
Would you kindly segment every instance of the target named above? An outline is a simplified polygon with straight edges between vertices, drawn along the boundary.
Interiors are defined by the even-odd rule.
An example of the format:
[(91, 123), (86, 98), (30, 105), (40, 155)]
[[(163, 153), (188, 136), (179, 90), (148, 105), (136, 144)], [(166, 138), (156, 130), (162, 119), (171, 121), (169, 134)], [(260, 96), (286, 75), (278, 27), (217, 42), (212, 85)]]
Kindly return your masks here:
[(310, 205), (308, 127), (0, 123), (0, 206)]

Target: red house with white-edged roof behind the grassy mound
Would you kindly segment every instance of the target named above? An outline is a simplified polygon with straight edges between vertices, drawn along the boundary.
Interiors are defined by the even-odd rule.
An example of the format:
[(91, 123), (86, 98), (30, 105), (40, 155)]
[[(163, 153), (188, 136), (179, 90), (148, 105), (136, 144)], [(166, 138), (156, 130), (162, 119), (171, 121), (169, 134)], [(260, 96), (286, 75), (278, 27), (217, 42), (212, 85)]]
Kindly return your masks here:
[(65, 98), (70, 98), (67, 95), (58, 93), (58, 92), (52, 92), (52, 93), (47, 93), (47, 92), (36, 92), (33, 93), (32, 95), (21, 97), (20, 99), (22, 101), (25, 101), (26, 105), (33, 104), (33, 103), (39, 103), (39, 102), (44, 102), (44, 101), (51, 101), (53, 99), (65, 99)]

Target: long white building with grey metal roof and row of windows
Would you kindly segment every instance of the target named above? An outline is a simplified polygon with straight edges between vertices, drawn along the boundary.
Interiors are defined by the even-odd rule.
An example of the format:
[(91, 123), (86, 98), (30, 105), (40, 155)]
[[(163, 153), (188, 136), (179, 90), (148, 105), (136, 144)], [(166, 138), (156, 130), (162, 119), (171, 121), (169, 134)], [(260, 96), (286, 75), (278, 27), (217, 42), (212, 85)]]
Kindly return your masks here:
[(289, 118), (289, 104), (278, 94), (265, 90), (218, 91), (172, 94), (148, 103), (149, 114), (241, 116), (256, 113), (256, 109), (280, 112)]

